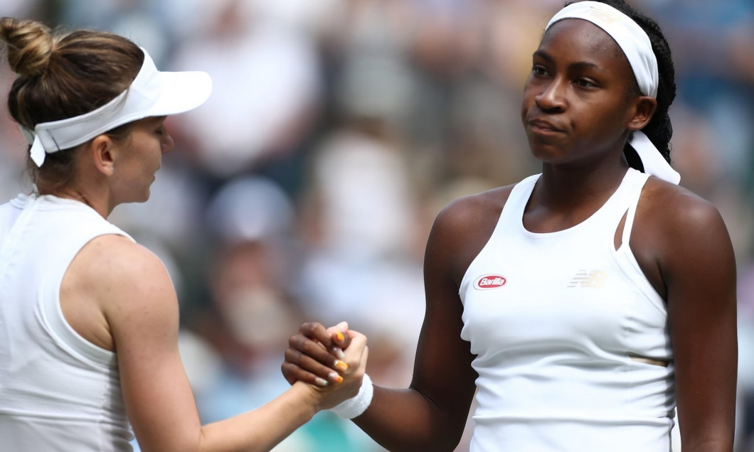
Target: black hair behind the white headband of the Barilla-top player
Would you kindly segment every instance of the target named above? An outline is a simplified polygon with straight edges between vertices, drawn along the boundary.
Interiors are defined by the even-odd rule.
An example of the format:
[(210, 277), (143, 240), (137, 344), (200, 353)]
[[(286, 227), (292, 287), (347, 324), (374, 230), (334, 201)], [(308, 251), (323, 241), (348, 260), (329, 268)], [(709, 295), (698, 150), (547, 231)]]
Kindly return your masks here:
[[(673, 66), (673, 57), (670, 55), (670, 45), (667, 43), (657, 22), (645, 14), (636, 11), (636, 9), (623, 0), (596, 1), (610, 5), (626, 14), (634, 22), (638, 23), (649, 36), (652, 50), (654, 50), (654, 55), (657, 57), (657, 72), (660, 75), (660, 84), (657, 89), (657, 110), (654, 111), (654, 116), (652, 116), (649, 124), (642, 129), (642, 132), (645, 133), (649, 141), (665, 157), (665, 160), (670, 163), (670, 138), (673, 137), (673, 124), (670, 124), (668, 110), (670, 110), (670, 104), (673, 103), (673, 99), (676, 99), (676, 69)], [(626, 154), (630, 166), (638, 170), (644, 170), (639, 156), (636, 155), (636, 151), (630, 145), (626, 145), (624, 154)]]

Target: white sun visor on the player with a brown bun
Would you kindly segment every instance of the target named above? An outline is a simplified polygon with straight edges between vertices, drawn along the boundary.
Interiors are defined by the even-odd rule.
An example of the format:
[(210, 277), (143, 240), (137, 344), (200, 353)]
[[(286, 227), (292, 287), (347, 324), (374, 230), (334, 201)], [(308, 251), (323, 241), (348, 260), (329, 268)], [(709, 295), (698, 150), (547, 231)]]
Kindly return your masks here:
[(149, 53), (130, 87), (115, 99), (84, 115), (37, 124), (34, 130), (21, 126), (32, 145), (31, 157), (42, 166), (44, 156), (81, 145), (95, 136), (143, 118), (176, 115), (203, 104), (212, 91), (206, 72), (160, 72)]

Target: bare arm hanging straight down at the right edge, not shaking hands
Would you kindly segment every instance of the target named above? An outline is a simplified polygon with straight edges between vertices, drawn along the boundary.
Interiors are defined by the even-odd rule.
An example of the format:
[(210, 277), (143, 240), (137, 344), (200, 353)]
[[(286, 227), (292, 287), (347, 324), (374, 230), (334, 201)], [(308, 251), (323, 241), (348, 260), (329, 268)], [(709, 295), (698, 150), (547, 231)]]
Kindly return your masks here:
[(637, 241), (645, 244), (636, 246), (657, 253), (657, 272), (667, 290), (682, 447), (730, 452), (737, 378), (731, 240), (710, 203), (685, 191), (647, 191), (650, 202), (642, 220), (648, 221), (639, 224), (653, 227), (639, 234)]

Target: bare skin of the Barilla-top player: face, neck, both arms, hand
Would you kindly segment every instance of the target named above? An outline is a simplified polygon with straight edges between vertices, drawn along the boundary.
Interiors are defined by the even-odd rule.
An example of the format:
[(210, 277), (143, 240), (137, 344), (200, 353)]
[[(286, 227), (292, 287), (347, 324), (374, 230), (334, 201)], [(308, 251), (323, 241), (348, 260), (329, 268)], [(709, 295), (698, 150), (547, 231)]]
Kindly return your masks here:
[[(584, 20), (562, 20), (543, 36), (526, 81), (522, 121), (542, 176), (523, 215), (532, 232), (584, 221), (615, 192), (628, 165), (624, 144), (651, 119), (621, 49)], [(389, 450), (453, 450), (474, 395), (474, 356), (461, 334), (458, 288), (486, 244), (513, 186), (455, 200), (438, 215), (425, 255), (425, 322), (408, 389), (375, 386), (354, 419)], [(615, 234), (620, 246), (623, 224)], [(683, 450), (733, 448), (737, 375), (736, 268), (719, 212), (685, 188), (650, 177), (630, 248), (667, 303)], [(332, 330), (302, 325), (283, 365), (291, 383), (322, 374)], [(346, 347), (345, 344), (342, 344)], [(307, 355), (304, 357), (303, 355)]]

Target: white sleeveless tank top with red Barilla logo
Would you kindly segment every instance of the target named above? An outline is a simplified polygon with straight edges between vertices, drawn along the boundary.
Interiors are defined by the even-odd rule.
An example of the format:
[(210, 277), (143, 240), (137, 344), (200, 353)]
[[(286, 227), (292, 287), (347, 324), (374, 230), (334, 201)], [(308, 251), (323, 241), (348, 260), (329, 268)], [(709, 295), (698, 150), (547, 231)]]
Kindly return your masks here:
[(523, 211), (538, 177), (513, 188), (461, 282), (461, 337), (479, 373), (470, 450), (668, 452), (675, 385), (667, 309), (629, 247), (648, 176), (628, 170), (590, 218), (535, 234), (523, 227)]

